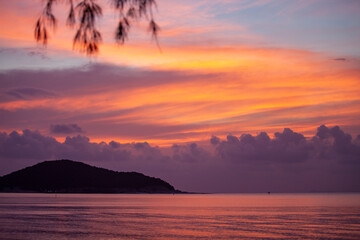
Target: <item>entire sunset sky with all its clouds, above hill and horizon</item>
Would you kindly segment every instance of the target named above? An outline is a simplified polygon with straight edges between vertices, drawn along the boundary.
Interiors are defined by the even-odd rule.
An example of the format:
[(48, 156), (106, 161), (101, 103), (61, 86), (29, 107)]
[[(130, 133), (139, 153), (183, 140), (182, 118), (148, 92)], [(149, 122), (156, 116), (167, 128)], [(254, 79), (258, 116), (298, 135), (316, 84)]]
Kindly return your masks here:
[(0, 0), (0, 175), (72, 159), (195, 192), (360, 191), (360, 1), (157, 0), (96, 56), (57, 4)]

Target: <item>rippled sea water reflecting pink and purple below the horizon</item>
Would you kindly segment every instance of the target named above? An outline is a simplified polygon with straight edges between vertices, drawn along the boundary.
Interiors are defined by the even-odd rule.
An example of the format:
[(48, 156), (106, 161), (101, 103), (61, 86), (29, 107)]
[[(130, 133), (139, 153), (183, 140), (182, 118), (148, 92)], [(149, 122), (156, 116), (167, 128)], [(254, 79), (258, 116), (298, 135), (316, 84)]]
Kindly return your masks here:
[(360, 194), (0, 194), (0, 239), (360, 239)]

